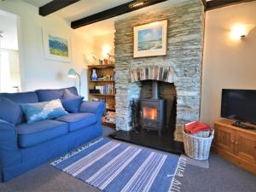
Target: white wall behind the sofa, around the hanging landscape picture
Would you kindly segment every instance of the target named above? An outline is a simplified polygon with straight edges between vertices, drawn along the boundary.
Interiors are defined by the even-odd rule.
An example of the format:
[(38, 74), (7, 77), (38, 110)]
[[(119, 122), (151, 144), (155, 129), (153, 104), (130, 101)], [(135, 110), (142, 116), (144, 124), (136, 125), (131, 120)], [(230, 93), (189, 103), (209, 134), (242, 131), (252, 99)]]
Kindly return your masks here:
[[(38, 8), (20, 0), (0, 1), (0, 9), (20, 17), (21, 41), (20, 71), (23, 90), (55, 89), (73, 86), (75, 80), (67, 78), (70, 68), (82, 73), (82, 95), (87, 98), (87, 77), (85, 67), (93, 61), (93, 38), (79, 34), (70, 28), (70, 23), (56, 15), (42, 17)], [(42, 27), (60, 35), (70, 36), (72, 40), (73, 61), (63, 62), (44, 58)]]

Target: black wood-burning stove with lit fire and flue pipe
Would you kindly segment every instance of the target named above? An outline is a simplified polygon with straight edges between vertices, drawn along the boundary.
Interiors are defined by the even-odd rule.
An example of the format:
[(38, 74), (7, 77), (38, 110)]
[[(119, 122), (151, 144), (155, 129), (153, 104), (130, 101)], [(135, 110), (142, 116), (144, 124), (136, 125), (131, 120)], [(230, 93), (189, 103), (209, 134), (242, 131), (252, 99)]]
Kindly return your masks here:
[(158, 82), (152, 83), (152, 98), (140, 99), (140, 125), (142, 129), (161, 131), (165, 128), (165, 100), (159, 99)]

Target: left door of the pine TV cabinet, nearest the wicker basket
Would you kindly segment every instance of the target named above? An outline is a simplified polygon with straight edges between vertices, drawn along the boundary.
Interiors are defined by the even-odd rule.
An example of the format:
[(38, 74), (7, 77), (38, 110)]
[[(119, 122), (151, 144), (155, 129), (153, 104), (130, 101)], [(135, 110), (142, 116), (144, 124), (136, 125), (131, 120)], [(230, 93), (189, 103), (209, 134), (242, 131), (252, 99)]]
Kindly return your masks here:
[(222, 125), (215, 125), (214, 144), (227, 152), (234, 152), (234, 131)]

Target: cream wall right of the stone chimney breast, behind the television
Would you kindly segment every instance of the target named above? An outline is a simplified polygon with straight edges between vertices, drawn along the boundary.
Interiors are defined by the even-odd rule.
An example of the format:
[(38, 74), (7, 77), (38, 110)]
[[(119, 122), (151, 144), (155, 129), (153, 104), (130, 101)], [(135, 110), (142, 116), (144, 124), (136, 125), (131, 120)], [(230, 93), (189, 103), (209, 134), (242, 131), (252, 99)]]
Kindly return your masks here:
[(235, 41), (236, 23), (256, 26), (256, 2), (207, 11), (201, 119), (211, 125), (220, 118), (222, 89), (256, 90), (256, 28)]

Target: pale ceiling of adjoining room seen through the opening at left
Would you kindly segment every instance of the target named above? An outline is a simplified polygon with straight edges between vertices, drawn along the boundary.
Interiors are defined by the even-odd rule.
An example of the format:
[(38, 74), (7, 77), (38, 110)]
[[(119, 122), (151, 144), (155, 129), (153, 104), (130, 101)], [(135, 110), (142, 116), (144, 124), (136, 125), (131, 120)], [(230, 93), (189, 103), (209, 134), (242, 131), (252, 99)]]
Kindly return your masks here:
[(3, 38), (1, 38), (1, 48), (3, 49), (18, 49), (18, 30), (17, 30), (17, 18), (15, 15), (11, 15), (0, 10), (0, 32)]

